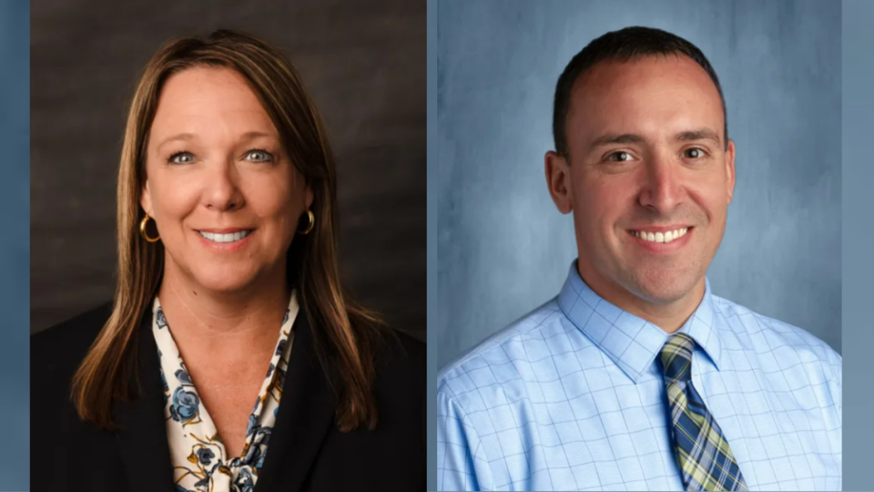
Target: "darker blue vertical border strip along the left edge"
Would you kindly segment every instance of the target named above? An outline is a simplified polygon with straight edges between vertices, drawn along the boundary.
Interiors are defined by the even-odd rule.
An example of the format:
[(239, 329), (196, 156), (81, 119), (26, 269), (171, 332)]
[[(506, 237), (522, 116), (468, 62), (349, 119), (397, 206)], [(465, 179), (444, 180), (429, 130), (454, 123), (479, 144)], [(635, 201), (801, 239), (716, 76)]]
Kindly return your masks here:
[[(30, 489), (30, 3), (0, 2), (0, 490)], [(38, 355), (37, 355), (38, 357)], [(40, 423), (46, 424), (46, 423)], [(37, 469), (37, 468), (35, 468)], [(51, 473), (50, 464), (39, 469)]]

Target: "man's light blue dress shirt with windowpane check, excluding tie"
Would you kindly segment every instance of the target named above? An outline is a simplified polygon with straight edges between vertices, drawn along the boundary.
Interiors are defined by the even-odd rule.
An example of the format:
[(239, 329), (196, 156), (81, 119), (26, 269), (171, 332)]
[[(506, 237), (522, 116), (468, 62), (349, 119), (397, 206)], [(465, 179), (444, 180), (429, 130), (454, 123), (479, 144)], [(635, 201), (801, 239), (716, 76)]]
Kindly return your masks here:
[[(840, 355), (709, 282), (680, 332), (750, 490), (840, 489)], [(655, 363), (668, 336), (574, 261), (557, 298), (441, 371), (437, 488), (682, 490)]]

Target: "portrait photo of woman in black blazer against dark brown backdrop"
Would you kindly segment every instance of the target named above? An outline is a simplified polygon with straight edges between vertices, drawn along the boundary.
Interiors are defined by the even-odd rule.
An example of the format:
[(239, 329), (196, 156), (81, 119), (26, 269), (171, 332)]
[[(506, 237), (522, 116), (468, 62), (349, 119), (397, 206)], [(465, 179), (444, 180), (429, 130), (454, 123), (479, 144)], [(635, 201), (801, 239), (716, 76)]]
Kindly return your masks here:
[(30, 489), (422, 489), (424, 3), (30, 13)]

